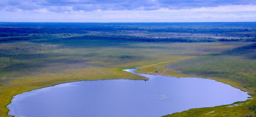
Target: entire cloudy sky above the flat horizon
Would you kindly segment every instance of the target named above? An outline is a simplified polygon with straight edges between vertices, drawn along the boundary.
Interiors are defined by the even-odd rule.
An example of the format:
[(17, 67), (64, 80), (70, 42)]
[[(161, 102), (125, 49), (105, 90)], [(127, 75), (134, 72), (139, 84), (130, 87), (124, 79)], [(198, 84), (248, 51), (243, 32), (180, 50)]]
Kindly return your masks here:
[(256, 21), (256, 0), (0, 0), (0, 21)]

